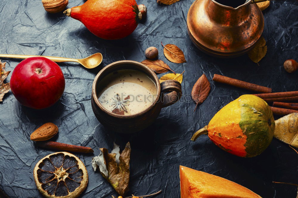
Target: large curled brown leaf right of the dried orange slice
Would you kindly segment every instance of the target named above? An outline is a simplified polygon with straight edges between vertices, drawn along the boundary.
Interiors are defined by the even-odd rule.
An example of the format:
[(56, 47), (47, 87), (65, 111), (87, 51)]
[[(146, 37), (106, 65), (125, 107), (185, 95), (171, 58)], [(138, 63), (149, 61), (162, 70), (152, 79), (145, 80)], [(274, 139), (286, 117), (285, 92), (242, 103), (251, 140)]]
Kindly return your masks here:
[(126, 144), (121, 154), (119, 146), (115, 143), (111, 153), (108, 153), (105, 148), (101, 148), (100, 151), (98, 156), (92, 158), (94, 171), (100, 171), (117, 193), (124, 196), (128, 191), (129, 184), (130, 143)]

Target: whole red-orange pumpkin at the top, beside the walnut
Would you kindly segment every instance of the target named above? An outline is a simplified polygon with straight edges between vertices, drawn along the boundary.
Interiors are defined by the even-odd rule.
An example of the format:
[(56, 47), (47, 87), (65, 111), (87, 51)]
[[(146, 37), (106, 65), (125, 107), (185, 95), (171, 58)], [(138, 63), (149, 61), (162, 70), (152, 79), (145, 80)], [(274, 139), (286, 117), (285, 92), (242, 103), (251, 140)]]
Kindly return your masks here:
[(142, 19), (135, 0), (88, 0), (64, 14), (81, 21), (94, 35), (108, 40), (130, 35)]

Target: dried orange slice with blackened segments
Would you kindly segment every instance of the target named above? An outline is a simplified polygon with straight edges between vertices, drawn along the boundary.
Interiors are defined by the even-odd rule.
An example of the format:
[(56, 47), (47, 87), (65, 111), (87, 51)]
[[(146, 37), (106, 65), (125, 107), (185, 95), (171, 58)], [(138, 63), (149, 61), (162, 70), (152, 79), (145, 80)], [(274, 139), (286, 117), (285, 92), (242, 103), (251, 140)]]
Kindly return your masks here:
[(75, 198), (88, 184), (83, 162), (68, 152), (57, 152), (39, 160), (34, 171), (35, 184), (44, 197)]

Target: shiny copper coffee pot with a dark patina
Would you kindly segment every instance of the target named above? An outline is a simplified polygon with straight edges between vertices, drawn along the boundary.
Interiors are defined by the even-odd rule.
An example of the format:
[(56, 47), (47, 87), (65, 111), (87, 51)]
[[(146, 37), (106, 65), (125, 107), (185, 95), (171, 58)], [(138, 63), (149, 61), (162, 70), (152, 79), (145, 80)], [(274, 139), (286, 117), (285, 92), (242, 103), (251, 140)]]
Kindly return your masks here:
[(264, 17), (255, 3), (264, 0), (246, 0), (238, 7), (217, 1), (196, 0), (191, 5), (187, 14), (190, 39), (203, 52), (216, 57), (232, 58), (245, 54), (263, 32)]

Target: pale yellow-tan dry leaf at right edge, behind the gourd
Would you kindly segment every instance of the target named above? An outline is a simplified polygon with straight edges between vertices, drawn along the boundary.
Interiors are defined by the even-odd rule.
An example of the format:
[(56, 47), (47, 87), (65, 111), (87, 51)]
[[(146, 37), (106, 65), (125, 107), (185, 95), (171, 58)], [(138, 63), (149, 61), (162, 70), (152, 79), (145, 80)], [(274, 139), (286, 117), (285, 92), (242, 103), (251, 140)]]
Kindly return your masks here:
[(298, 148), (298, 113), (291, 113), (275, 120), (275, 138)]

